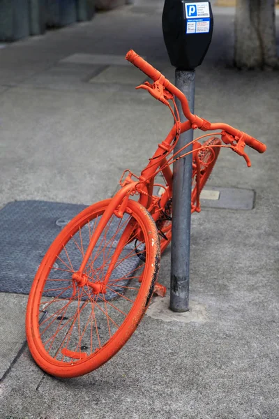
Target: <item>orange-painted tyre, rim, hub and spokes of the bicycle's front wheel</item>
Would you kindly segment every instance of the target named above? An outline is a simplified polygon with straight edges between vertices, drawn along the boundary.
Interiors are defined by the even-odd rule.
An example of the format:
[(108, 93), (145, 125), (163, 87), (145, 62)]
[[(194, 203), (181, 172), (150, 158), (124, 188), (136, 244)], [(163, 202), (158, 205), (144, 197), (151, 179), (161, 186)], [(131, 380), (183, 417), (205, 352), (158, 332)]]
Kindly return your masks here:
[[(122, 294), (114, 291), (116, 295), (119, 295), (118, 300), (114, 299), (105, 302), (101, 290), (98, 294), (94, 292), (94, 289), (92, 293), (90, 292), (90, 288), (95, 288), (95, 291), (97, 291), (97, 287), (100, 284), (100, 274), (107, 267), (108, 259), (105, 253), (103, 253), (104, 264), (101, 268), (97, 267), (98, 274), (96, 278), (93, 277), (94, 260), (89, 260), (85, 270), (87, 274), (84, 273), (80, 276), (77, 272), (73, 272), (73, 264), (68, 253), (68, 256), (65, 256), (65, 260), (60, 257), (59, 260), (60, 262), (63, 261), (67, 272), (72, 272), (73, 282), (71, 283), (69, 280), (67, 283), (69, 285), (66, 289), (73, 291), (73, 295), (70, 297), (63, 297), (61, 293), (56, 297), (43, 295), (47, 281), (50, 281), (50, 272), (55, 272), (56, 278), (59, 276), (59, 272), (63, 273), (63, 269), (58, 268), (59, 270), (57, 270), (57, 267), (53, 267), (54, 261), (58, 260), (57, 257), (59, 258), (61, 251), (64, 251), (63, 249), (65, 249), (70, 240), (73, 240), (73, 237), (79, 237), (83, 228), (85, 228), (89, 237), (93, 239), (93, 230), (90, 230), (90, 226), (92, 225), (92, 228), (95, 229), (97, 224), (100, 224), (102, 221), (104, 214), (112, 212), (114, 207), (112, 205), (113, 201), (113, 199), (100, 201), (91, 205), (91, 207), (87, 207), (75, 216), (54, 240), (45, 254), (33, 281), (27, 305), (27, 341), (33, 359), (47, 374), (69, 378), (87, 374), (103, 365), (133, 335), (151, 301), (160, 267), (158, 233), (156, 225), (146, 209), (133, 200), (128, 201), (128, 212), (126, 214), (133, 214), (130, 221), (133, 221), (137, 228), (142, 229), (144, 237), (142, 242), (144, 244), (144, 264), (140, 265), (139, 268), (133, 269), (133, 278), (135, 281), (139, 280), (140, 287), (137, 290), (137, 288), (121, 286), (117, 282), (118, 280), (116, 280), (116, 287), (128, 288), (130, 293), (134, 293), (135, 296), (129, 298), (125, 294), (122, 296)], [(98, 222), (98, 220), (100, 221)], [(123, 219), (120, 219), (119, 222), (123, 222), (123, 226), (126, 224), (129, 226), (129, 222), (126, 223)], [(110, 257), (113, 243), (110, 235), (106, 237), (109, 232), (109, 226), (110, 223), (107, 223), (105, 226), (104, 243), (107, 244), (106, 248), (109, 250), (108, 255)], [(78, 244), (76, 240), (74, 238), (73, 245)], [(82, 242), (80, 244), (82, 245)], [(82, 246), (78, 246), (78, 248), (82, 251)], [(100, 252), (99, 248), (98, 251)], [(100, 254), (102, 255), (102, 253)], [(121, 263), (121, 260), (123, 260), (122, 257), (119, 258), (117, 264)], [(143, 272), (141, 272), (142, 266), (144, 267)], [(138, 269), (140, 270), (137, 273)], [(54, 281), (58, 281), (58, 290), (61, 289), (60, 284), (64, 280), (63, 276), (61, 279), (54, 279)], [(106, 284), (107, 288), (112, 286), (112, 281)], [(105, 281), (102, 282), (104, 286)], [(161, 290), (161, 292), (163, 291)], [(123, 300), (124, 308), (121, 305), (121, 299)], [(100, 307), (100, 304), (103, 304), (103, 308)], [(70, 305), (73, 306), (74, 311), (68, 314)], [(41, 306), (42, 308), (40, 308)], [(52, 307), (54, 308), (52, 309)], [(114, 321), (114, 313), (123, 318), (121, 324), (119, 319)], [(107, 317), (107, 321), (105, 320), (102, 323), (100, 332), (100, 328), (98, 328), (98, 314), (101, 318)], [(104, 339), (106, 332), (106, 324), (107, 341), (104, 341), (102, 339)], [(112, 329), (114, 330), (112, 331)], [(86, 333), (88, 330), (89, 332)], [(49, 333), (50, 337), (48, 337), (47, 333)], [(84, 337), (86, 337), (85, 342), (83, 340)], [(95, 339), (96, 344), (94, 346), (90, 339), (91, 341)]]

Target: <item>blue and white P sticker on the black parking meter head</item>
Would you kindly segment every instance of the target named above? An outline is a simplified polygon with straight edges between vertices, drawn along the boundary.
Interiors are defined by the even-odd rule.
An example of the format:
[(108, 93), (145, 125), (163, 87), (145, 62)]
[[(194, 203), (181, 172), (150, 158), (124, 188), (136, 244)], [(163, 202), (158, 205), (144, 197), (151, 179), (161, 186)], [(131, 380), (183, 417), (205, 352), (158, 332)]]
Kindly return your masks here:
[(186, 34), (206, 34), (210, 29), (209, 2), (185, 3)]

